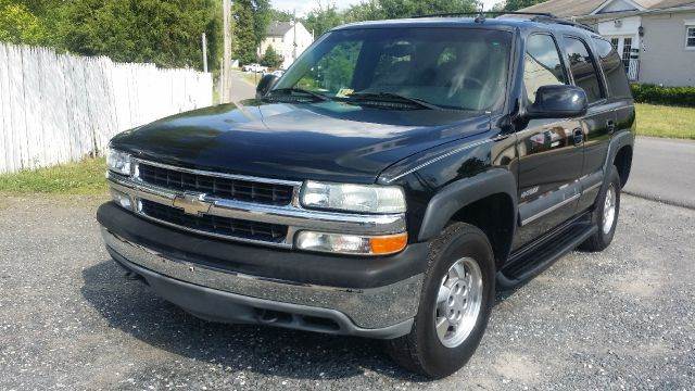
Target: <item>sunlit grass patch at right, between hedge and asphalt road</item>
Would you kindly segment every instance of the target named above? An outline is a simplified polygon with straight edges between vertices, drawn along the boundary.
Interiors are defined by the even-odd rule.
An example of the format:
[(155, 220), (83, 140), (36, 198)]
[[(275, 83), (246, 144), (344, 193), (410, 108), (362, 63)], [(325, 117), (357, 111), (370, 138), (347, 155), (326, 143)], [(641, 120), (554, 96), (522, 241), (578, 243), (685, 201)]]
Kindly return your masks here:
[(695, 108), (637, 103), (637, 135), (695, 140)]

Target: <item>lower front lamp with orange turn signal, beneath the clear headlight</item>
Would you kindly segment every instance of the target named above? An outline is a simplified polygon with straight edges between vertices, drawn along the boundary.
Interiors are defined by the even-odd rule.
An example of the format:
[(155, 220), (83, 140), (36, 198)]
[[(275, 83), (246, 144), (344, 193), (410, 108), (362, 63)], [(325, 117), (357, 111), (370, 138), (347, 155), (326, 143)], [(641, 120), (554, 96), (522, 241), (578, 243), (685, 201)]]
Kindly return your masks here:
[(358, 235), (302, 231), (296, 237), (296, 248), (306, 251), (338, 254), (389, 255), (395, 254), (408, 243), (407, 234), (364, 237)]

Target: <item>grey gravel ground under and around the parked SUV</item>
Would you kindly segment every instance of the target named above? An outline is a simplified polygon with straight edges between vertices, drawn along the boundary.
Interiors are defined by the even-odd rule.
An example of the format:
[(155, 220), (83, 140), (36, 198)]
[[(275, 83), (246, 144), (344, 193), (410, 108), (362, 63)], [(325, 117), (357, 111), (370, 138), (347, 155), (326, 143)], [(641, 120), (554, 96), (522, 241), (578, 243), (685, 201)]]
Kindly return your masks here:
[(695, 211), (626, 195), (612, 247), (572, 253), (500, 295), (469, 365), (429, 382), (374, 341), (184, 313), (109, 260), (99, 201), (0, 199), (0, 389), (695, 384)]

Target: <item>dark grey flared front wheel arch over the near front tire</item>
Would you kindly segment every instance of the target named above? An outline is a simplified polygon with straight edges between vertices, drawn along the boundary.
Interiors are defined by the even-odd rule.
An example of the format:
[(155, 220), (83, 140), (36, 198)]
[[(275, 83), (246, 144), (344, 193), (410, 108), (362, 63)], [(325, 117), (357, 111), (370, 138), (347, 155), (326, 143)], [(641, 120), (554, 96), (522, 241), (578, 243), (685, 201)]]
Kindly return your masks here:
[(500, 266), (511, 249), (517, 226), (517, 181), (507, 169), (491, 169), (445, 186), (429, 202), (419, 241), (428, 241), (451, 223), (468, 223), (490, 240)]

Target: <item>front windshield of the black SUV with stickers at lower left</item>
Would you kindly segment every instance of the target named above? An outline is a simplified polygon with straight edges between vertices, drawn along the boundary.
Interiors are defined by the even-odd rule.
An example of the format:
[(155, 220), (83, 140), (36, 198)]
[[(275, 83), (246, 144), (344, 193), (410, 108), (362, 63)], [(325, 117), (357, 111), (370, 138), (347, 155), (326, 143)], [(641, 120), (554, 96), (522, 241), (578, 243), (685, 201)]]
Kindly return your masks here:
[(504, 102), (510, 42), (511, 34), (491, 29), (337, 30), (302, 54), (274, 90), (494, 111)]

